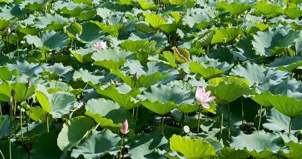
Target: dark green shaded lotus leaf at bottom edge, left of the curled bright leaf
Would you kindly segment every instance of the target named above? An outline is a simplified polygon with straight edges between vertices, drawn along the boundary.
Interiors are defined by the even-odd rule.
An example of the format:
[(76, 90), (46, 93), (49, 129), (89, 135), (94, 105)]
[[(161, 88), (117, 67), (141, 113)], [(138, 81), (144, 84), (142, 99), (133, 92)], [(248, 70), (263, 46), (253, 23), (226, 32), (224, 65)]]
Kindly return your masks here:
[[(49, 133), (42, 134), (33, 144), (30, 151), (31, 158), (54, 159), (66, 155), (57, 145), (57, 138), (60, 133), (59, 129), (51, 130)], [(51, 151), (50, 151), (51, 150)]]

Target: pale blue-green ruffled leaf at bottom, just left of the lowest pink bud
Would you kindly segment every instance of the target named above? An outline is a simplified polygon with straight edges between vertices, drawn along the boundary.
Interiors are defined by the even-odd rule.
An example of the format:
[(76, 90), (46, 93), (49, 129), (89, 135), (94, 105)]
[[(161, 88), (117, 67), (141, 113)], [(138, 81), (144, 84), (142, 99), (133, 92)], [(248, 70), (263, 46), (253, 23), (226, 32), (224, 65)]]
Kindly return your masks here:
[(109, 129), (102, 131), (92, 130), (89, 136), (72, 150), (71, 156), (78, 158), (83, 155), (84, 158), (93, 159), (106, 153), (117, 155), (120, 150), (118, 148), (120, 141), (121, 138), (113, 134)]

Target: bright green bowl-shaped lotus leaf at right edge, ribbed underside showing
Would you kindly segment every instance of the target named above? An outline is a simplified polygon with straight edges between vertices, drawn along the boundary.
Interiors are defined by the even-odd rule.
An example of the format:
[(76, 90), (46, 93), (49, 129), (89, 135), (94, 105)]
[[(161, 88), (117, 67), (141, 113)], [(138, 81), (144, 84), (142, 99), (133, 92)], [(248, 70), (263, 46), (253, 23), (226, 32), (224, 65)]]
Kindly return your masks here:
[(302, 100), (286, 95), (273, 95), (271, 92), (263, 92), (271, 105), (280, 113), (288, 117), (296, 117), (302, 115)]

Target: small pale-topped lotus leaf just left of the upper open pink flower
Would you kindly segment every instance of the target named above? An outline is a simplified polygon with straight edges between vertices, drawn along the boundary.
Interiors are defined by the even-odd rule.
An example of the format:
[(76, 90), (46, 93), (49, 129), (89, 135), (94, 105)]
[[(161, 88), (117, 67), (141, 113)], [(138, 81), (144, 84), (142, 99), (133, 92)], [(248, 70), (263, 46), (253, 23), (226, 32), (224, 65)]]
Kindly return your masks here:
[(91, 56), (93, 52), (95, 51), (95, 48), (88, 47), (88, 48), (78, 48), (77, 50), (71, 50), (69, 49), (71, 54), (82, 64), (87, 64), (88, 62), (93, 63), (94, 60), (91, 59)]

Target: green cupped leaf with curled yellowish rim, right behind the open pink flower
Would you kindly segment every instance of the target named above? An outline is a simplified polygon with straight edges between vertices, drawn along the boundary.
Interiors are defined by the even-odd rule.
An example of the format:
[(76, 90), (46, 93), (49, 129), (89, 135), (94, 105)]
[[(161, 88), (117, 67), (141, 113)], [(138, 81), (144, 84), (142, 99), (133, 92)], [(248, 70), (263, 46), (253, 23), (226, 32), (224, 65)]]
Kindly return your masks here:
[(211, 94), (217, 97), (214, 100), (222, 105), (250, 92), (249, 82), (244, 78), (217, 77), (209, 80), (207, 84), (209, 85), (206, 91), (211, 91)]

